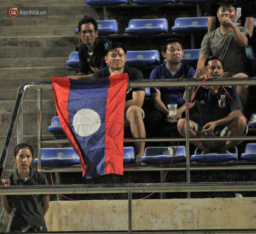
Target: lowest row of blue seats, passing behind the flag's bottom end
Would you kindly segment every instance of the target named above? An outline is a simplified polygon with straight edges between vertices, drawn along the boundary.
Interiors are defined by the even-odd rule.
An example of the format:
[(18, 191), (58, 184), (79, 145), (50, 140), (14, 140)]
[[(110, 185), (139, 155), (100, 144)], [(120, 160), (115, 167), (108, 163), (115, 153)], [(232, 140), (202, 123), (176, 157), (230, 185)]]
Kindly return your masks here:
[[(144, 157), (141, 161), (146, 164), (170, 164), (186, 162), (186, 147), (178, 146), (176, 155), (168, 155), (169, 147), (147, 147)], [(174, 147), (176, 150), (176, 146)], [(191, 155), (190, 161), (197, 163), (222, 163), (238, 160), (237, 148), (230, 150), (229, 154), (211, 153), (201, 155), (202, 151), (198, 148), (195, 154)], [(136, 152), (133, 147), (124, 147), (123, 162), (124, 165), (135, 163)], [(246, 145), (245, 152), (241, 154), (241, 159), (256, 162), (256, 143)], [(34, 159), (34, 163), (38, 163), (38, 159)], [(41, 149), (41, 165), (42, 167), (66, 167), (75, 164), (80, 164), (80, 159), (73, 148), (42, 148)]]

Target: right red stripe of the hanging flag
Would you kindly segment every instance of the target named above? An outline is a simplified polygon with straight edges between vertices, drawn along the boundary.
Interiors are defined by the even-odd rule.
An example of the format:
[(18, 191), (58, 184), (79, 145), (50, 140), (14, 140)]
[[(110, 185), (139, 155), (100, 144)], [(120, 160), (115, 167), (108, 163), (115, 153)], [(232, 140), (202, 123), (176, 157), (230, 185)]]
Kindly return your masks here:
[(123, 175), (124, 112), (128, 79), (127, 73), (109, 77), (105, 122), (106, 174)]

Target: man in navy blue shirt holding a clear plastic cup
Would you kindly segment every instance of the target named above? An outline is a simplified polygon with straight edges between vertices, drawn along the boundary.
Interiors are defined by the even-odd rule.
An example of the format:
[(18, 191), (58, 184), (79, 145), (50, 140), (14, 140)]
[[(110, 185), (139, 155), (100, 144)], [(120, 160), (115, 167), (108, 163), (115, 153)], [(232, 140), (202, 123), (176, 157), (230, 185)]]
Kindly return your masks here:
[[(162, 55), (166, 58), (166, 63), (157, 66), (150, 74), (150, 79), (192, 79), (195, 75), (194, 68), (181, 62), (183, 57), (182, 42), (176, 38), (167, 39), (161, 46)], [(182, 117), (186, 110), (183, 94), (185, 87), (163, 87), (150, 88), (156, 110), (150, 113), (149, 131), (156, 132), (159, 127), (173, 124), (176, 127), (177, 119)], [(169, 115), (168, 104), (177, 104), (177, 113), (173, 117)], [(194, 105), (194, 104), (193, 104)], [(191, 106), (192, 107), (192, 106)], [(184, 113), (185, 114), (185, 113)]]

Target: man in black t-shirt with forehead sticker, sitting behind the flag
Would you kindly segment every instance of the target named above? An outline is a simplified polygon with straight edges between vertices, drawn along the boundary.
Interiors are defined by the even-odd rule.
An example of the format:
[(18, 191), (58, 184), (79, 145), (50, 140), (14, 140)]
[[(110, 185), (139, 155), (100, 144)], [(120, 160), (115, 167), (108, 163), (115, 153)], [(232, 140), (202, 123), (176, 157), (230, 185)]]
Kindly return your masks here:
[[(114, 43), (106, 50), (105, 62), (108, 67), (93, 73), (92, 79), (99, 79), (117, 74), (127, 73), (129, 80), (142, 80), (142, 72), (138, 69), (128, 67), (126, 62), (126, 46)], [(125, 99), (125, 126), (131, 127), (133, 138), (145, 138), (144, 111), (142, 104), (145, 97), (145, 88), (130, 88), (126, 91)], [(136, 162), (140, 163), (140, 158), (144, 156), (145, 142), (135, 142), (137, 152)]]

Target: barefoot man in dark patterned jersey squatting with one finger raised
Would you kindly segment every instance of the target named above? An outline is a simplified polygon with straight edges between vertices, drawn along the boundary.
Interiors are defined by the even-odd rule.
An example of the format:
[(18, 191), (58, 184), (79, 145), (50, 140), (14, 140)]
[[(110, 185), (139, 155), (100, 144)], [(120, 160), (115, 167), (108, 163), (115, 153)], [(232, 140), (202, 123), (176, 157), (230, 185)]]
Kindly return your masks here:
[[(204, 64), (207, 66), (204, 67)], [(202, 67), (197, 73), (207, 77), (221, 78), (223, 76), (223, 62), (217, 57), (204, 59)], [(242, 110), (239, 95), (235, 86), (225, 86), (232, 99)], [(200, 87), (195, 94), (195, 100), (200, 103), (199, 124), (189, 121), (189, 136), (194, 138), (213, 138), (213, 141), (192, 141), (191, 143), (202, 150), (202, 154), (211, 152), (229, 153), (240, 141), (214, 141), (217, 136), (242, 136), (247, 133), (248, 126), (245, 117), (232, 102), (223, 86)], [(178, 121), (178, 130), (182, 131), (185, 119)], [(186, 135), (184, 127), (182, 136)]]

